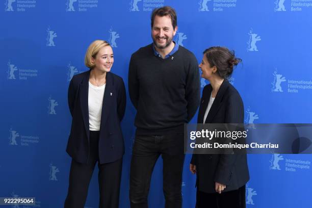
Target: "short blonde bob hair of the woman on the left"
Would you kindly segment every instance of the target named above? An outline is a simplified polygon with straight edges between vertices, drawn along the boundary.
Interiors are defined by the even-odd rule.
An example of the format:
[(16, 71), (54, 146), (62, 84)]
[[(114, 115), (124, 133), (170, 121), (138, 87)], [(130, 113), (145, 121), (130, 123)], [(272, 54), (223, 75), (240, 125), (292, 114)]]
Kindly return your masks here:
[(111, 46), (107, 41), (105, 40), (95, 40), (93, 41), (88, 49), (87, 49), (87, 53), (86, 53), (86, 56), (85, 56), (85, 65), (92, 69), (95, 64), (92, 63), (91, 61), (91, 57), (93, 57), (93, 59), (95, 59), (98, 51), (102, 48), (102, 47), (105, 47), (105, 46)]

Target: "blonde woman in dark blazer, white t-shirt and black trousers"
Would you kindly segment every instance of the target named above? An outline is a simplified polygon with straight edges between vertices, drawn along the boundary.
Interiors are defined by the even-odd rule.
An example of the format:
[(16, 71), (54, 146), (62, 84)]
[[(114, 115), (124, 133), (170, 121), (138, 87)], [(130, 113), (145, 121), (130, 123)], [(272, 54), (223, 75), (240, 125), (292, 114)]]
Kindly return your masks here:
[(95, 40), (85, 56), (90, 70), (74, 75), (68, 89), (72, 116), (67, 153), (72, 158), (65, 207), (83, 208), (97, 163), (99, 207), (118, 207), (124, 154), (120, 121), (125, 111), (125, 87), (111, 72), (113, 49)]

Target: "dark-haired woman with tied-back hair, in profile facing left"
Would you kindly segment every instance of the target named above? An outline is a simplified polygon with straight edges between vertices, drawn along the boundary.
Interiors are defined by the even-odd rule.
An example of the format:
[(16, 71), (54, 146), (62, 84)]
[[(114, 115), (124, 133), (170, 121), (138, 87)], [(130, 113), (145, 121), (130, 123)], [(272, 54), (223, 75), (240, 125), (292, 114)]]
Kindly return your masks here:
[[(228, 82), (241, 59), (225, 47), (211, 47), (199, 65), (210, 82), (202, 91), (197, 123), (244, 123), (239, 92)], [(246, 154), (193, 154), (190, 171), (197, 175), (197, 207), (246, 207), (249, 180)]]

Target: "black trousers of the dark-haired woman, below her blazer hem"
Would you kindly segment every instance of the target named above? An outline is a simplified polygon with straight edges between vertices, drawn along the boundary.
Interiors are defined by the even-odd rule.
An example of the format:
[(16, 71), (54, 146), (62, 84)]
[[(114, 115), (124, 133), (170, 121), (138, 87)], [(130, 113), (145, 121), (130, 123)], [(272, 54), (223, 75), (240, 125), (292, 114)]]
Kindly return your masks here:
[(245, 189), (219, 193), (205, 193), (197, 189), (196, 208), (246, 208)]

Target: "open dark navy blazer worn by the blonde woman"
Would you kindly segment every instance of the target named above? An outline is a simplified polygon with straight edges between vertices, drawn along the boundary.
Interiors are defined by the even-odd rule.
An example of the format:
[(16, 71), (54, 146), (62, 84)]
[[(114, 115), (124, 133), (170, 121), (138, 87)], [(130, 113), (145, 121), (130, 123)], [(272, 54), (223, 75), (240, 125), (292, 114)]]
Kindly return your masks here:
[[(79, 163), (88, 163), (89, 147), (89, 92), (90, 70), (72, 77), (68, 88), (68, 106), (72, 116), (66, 151)], [(122, 158), (124, 142), (120, 127), (126, 104), (125, 87), (120, 76), (108, 72), (103, 97), (100, 132), (99, 163), (110, 163)]]

